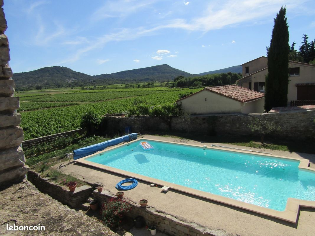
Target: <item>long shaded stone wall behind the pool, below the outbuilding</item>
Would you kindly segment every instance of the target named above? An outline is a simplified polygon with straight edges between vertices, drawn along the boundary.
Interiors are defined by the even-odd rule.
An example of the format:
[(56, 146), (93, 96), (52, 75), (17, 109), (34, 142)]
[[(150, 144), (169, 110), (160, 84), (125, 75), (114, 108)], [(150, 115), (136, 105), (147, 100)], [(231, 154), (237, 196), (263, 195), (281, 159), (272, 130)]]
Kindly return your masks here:
[[(289, 113), (264, 113), (264, 114), (221, 114), (209, 116), (171, 117), (165, 119), (142, 116), (105, 116), (105, 130), (117, 130), (121, 133), (130, 126), (131, 132), (182, 131), (208, 135), (251, 135), (248, 124), (254, 118), (274, 122), (279, 127), (278, 131), (271, 134), (273, 137), (283, 139), (314, 139), (315, 137), (315, 110), (289, 112)], [(170, 126), (169, 126), (170, 124)], [(171, 129), (170, 129), (171, 127)], [(114, 131), (112, 131), (114, 132)]]

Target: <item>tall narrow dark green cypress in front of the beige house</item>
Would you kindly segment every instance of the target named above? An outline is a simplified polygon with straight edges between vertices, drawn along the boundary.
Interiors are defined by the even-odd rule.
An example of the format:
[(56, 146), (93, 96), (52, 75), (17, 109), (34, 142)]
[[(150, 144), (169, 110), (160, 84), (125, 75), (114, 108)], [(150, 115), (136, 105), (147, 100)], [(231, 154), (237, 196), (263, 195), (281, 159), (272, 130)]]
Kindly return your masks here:
[(268, 75), (266, 76), (265, 110), (287, 106), (289, 84), (289, 31), (286, 9), (281, 7), (267, 48)]

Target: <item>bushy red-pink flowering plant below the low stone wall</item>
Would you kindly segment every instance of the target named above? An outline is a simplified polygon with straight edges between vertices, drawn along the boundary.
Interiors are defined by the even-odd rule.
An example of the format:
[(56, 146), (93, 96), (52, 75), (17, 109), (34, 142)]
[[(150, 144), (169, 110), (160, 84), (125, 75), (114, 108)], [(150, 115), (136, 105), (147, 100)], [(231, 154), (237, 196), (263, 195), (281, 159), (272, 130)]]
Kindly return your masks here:
[(131, 210), (131, 204), (122, 198), (111, 198), (100, 209), (103, 222), (110, 228), (117, 228), (123, 216)]

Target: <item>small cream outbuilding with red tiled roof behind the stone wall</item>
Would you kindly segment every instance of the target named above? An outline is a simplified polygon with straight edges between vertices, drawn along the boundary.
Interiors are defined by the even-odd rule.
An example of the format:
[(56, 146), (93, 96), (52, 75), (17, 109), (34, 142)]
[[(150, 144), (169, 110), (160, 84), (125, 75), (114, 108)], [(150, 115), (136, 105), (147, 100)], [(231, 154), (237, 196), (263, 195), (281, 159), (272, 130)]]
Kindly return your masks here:
[(264, 93), (238, 85), (205, 87), (176, 101), (182, 109), (194, 115), (226, 113), (263, 113)]

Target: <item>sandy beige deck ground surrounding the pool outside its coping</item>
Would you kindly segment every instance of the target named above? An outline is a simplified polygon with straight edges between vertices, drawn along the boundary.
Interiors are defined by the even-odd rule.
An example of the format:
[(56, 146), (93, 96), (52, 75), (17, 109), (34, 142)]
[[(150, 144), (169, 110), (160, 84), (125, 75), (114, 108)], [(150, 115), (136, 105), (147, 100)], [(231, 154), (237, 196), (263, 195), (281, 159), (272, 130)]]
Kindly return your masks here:
[[(286, 151), (274, 151), (268, 149), (255, 149), (249, 147), (240, 147), (221, 143), (206, 143), (194, 140), (165, 138), (159, 136), (144, 135), (144, 138), (155, 139), (168, 142), (186, 143), (193, 145), (211, 144), (263, 151), (273, 155), (309, 159), (310, 167), (315, 168), (315, 155), (304, 153), (290, 153)], [(57, 164), (54, 167), (64, 165)], [(115, 185), (125, 179), (125, 176), (97, 169), (95, 167), (85, 166), (77, 162), (71, 162), (70, 165), (58, 168), (60, 171), (71, 174), (83, 181), (89, 183), (100, 182), (104, 184), (103, 189), (115, 194), (117, 190)], [(212, 230), (223, 230), (222, 235), (241, 235), (241, 236), (295, 236), (295, 235), (314, 235), (315, 232), (315, 208), (302, 208), (296, 224), (285, 222), (269, 216), (263, 216), (258, 213), (250, 212), (222, 203), (216, 203), (211, 200), (202, 199), (191, 194), (182, 193), (170, 189), (166, 194), (161, 193), (161, 189), (150, 187), (149, 183), (139, 181), (136, 188), (126, 191), (125, 196), (137, 202), (140, 199), (148, 199), (148, 205), (154, 207), (156, 211), (161, 211), (184, 222), (195, 222), (201, 226)]]

